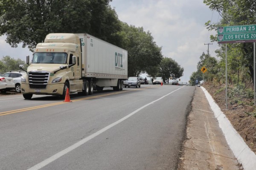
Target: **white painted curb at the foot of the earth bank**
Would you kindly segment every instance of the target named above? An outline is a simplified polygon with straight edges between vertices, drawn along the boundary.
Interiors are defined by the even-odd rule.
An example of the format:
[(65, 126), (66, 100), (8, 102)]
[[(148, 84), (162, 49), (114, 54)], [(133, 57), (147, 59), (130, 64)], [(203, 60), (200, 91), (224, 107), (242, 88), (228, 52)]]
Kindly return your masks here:
[(250, 150), (239, 133), (237, 133), (237, 131), (233, 128), (230, 121), (215, 103), (214, 99), (212, 99), (212, 96), (208, 93), (208, 91), (202, 86), (201, 88), (203, 89), (209, 105), (211, 106), (212, 111), (218, 120), (219, 127), (224, 133), (227, 144), (230, 146), (230, 149), (233, 151), (236, 159), (243, 165), (244, 170), (256, 170), (255, 153)]

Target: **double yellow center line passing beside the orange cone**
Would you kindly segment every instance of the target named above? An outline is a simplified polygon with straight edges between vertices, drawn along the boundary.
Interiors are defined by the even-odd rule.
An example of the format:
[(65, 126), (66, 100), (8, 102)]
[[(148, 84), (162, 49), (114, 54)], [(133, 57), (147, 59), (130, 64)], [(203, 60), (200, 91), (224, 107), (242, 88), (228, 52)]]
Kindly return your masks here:
[[(151, 88), (147, 87), (147, 88)], [(136, 90), (143, 90), (144, 88), (141, 89), (136, 89)], [(72, 102), (77, 102), (77, 101), (81, 101), (81, 100), (88, 100), (88, 99), (94, 99), (94, 98), (98, 98), (98, 97), (103, 97), (103, 96), (110, 96), (113, 94), (121, 94), (121, 93), (125, 93), (125, 92), (129, 92), (129, 91), (134, 91), (134, 90), (127, 90), (127, 91), (119, 91), (119, 92), (114, 92), (114, 93), (110, 93), (110, 94), (101, 94), (98, 96), (90, 96), (90, 97), (84, 97), (81, 99), (74, 99), (71, 100)], [(29, 107), (29, 108), (22, 108), (22, 109), (17, 109), (17, 110), (12, 110), (12, 111), (4, 111), (4, 112), (0, 112), (0, 116), (4, 116), (4, 115), (8, 115), (8, 114), (13, 114), (13, 113), (19, 113), (19, 112), (24, 112), (24, 111), (30, 111), (30, 110), (34, 110), (34, 109), (39, 109), (39, 108), (46, 108), (49, 106), (54, 106), (54, 105), (61, 105), (61, 104), (67, 104), (68, 102), (56, 102), (56, 103), (51, 103), (51, 104), (47, 104), (47, 105), (39, 105), (39, 106), (33, 106), (33, 107)]]

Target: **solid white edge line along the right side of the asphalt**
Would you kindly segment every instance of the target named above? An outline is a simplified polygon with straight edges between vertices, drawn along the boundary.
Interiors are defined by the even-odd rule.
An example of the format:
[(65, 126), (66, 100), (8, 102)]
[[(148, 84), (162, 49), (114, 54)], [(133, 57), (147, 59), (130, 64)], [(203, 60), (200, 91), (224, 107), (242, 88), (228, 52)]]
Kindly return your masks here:
[[(183, 87), (185, 87), (185, 86), (183, 86)], [(183, 88), (183, 87), (181, 87), (181, 88)], [(181, 88), (178, 88), (177, 90), (180, 90)], [(175, 91), (177, 91), (177, 90), (175, 90)], [(169, 94), (172, 94), (172, 93), (174, 93), (175, 91), (172, 91), (172, 92), (169, 93)], [(143, 108), (147, 107), (148, 105), (153, 104), (154, 102), (157, 102), (157, 101), (160, 100), (160, 99), (163, 99), (164, 97), (168, 96), (169, 94), (166, 94), (165, 96), (162, 96), (162, 97), (160, 97), (159, 99), (154, 100), (153, 102), (150, 102), (150, 103), (148, 103), (148, 104), (142, 106), (141, 108), (138, 108), (136, 111), (134, 111), (134, 112), (128, 114), (127, 116), (123, 117), (122, 119), (119, 119), (118, 121), (112, 123), (111, 125), (108, 125), (108, 126), (104, 127), (103, 129), (97, 131), (96, 133), (93, 133), (92, 135), (87, 136), (86, 138), (84, 138), (84, 139), (82, 139), (81, 141), (79, 141), (79, 142), (77, 142), (77, 143), (71, 145), (70, 147), (67, 147), (67, 148), (64, 149), (64, 150), (61, 150), (59, 153), (56, 153), (55, 155), (53, 155), (53, 156), (51, 156), (51, 157), (45, 159), (44, 161), (42, 161), (42, 162), (36, 164), (35, 166), (29, 168), (28, 170), (39, 170), (39, 169), (41, 169), (42, 167), (46, 166), (47, 164), (51, 163), (52, 161), (55, 161), (56, 159), (60, 158), (61, 156), (64, 156), (65, 154), (69, 153), (70, 151), (72, 151), (72, 150), (76, 149), (77, 147), (81, 146), (82, 144), (88, 142), (90, 139), (93, 139), (94, 137), (98, 136), (99, 134), (101, 134), (101, 133), (105, 132), (106, 130), (110, 129), (111, 127), (113, 127), (113, 126), (115, 126), (115, 125), (121, 123), (121, 122), (124, 121), (125, 119), (128, 119), (129, 117), (133, 116), (133, 115), (134, 115), (135, 113), (137, 113), (138, 111), (142, 110)]]

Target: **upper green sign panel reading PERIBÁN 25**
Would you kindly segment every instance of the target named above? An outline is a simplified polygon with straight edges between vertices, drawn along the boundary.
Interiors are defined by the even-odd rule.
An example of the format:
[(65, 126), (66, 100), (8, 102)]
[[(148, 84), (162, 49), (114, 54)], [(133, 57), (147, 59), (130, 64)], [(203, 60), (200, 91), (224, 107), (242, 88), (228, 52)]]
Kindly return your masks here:
[(256, 25), (218, 27), (218, 34), (256, 32)]

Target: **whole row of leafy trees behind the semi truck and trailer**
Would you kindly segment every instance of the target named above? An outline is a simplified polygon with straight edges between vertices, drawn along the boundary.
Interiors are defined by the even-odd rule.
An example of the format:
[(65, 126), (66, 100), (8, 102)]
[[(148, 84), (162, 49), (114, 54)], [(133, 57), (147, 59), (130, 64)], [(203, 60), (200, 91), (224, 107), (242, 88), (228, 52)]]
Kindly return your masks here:
[[(22, 43), (34, 51), (49, 33), (87, 33), (128, 51), (128, 77), (179, 78), (183, 68), (163, 57), (150, 31), (118, 19), (111, 0), (0, 0), (0, 35), (12, 47)], [(3, 60), (0, 65), (3, 65)], [(175, 69), (176, 68), (176, 69)], [(5, 68), (0, 67), (0, 72)]]

